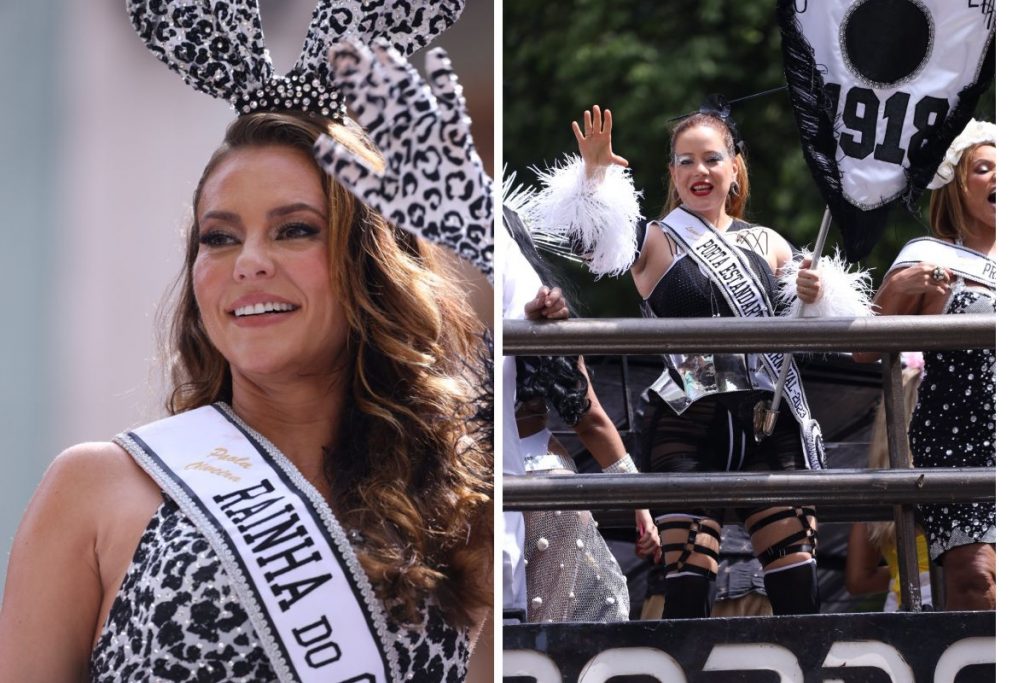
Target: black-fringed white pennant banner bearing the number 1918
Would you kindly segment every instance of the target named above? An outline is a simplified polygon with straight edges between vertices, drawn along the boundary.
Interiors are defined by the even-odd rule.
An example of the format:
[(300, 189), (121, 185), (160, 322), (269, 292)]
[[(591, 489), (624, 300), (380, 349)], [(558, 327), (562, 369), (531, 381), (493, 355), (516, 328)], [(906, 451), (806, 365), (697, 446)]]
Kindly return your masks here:
[(804, 157), (859, 260), (912, 206), (995, 71), (994, 0), (779, 0)]

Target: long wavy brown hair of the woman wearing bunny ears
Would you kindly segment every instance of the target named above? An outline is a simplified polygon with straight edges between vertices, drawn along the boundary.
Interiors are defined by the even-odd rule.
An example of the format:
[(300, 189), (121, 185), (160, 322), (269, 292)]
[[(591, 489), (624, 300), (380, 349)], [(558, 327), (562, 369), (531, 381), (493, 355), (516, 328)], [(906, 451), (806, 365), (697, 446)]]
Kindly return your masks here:
[[(383, 167), (354, 125), (260, 113), (230, 125), (203, 171), (168, 311), (171, 414), (231, 400), (230, 368), (203, 328), (193, 289), (196, 207), (207, 178), (249, 146), (294, 147), (315, 166), (312, 145), (325, 132)], [(479, 414), (480, 386), (490, 385), (483, 327), (438, 248), (390, 226), (323, 171), (321, 179), (330, 272), (350, 330), (342, 414), (324, 463), (331, 504), (361, 537), (359, 561), (393, 615), (415, 622), (432, 596), (452, 624), (469, 626), (493, 595), (494, 459)]]

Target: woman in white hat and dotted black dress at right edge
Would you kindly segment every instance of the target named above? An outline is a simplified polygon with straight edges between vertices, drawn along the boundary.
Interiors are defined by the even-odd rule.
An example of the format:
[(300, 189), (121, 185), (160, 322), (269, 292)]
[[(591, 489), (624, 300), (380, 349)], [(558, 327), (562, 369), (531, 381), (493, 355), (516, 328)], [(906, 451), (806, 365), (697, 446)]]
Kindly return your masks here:
[[(910, 245), (897, 257), (874, 298), (880, 314), (994, 313), (995, 126), (971, 121), (929, 187), (937, 239), (915, 241), (931, 250), (918, 245), (919, 258), (902, 258)], [(995, 466), (994, 349), (925, 353), (909, 436), (915, 467)], [(922, 505), (918, 515), (946, 608), (994, 609), (995, 505)]]

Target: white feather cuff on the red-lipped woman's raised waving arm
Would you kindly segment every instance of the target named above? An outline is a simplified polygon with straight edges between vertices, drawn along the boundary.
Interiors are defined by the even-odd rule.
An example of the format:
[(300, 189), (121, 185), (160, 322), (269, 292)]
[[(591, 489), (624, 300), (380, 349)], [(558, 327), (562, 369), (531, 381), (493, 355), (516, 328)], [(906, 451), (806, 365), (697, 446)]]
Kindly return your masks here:
[(582, 251), (598, 278), (630, 269), (637, 254), (640, 193), (629, 169), (609, 166), (603, 180), (590, 180), (583, 159), (567, 155), (562, 164), (535, 169), (542, 188), (526, 207), (527, 225), (538, 245), (564, 254)]

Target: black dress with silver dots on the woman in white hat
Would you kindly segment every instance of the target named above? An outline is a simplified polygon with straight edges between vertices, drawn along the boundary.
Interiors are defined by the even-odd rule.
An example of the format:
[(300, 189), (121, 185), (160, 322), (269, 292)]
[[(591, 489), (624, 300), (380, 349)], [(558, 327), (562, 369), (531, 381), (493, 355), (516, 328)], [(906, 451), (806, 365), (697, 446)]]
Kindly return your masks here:
[[(958, 281), (946, 313), (994, 313), (995, 293)], [(995, 350), (926, 351), (910, 422), (914, 467), (995, 467)], [(918, 507), (932, 559), (952, 548), (995, 543), (995, 505)]]

